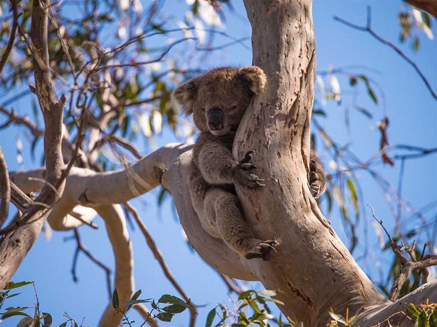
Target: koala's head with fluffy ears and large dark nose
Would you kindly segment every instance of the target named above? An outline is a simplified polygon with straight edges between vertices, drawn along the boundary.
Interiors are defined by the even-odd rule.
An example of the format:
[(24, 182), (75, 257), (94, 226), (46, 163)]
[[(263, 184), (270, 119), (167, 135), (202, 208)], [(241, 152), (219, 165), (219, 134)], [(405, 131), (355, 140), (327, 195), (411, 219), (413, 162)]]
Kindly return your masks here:
[(266, 75), (256, 66), (216, 68), (181, 84), (173, 99), (201, 132), (235, 133), (253, 94), (263, 92)]

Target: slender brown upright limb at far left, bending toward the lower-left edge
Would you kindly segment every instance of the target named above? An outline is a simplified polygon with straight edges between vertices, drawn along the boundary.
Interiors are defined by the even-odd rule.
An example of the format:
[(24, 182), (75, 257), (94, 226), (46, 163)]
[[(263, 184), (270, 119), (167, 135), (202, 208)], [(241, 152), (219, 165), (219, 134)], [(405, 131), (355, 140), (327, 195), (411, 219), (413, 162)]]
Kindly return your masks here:
[[(47, 41), (47, 17), (50, 6), (49, 1), (35, 0), (32, 9), (31, 36), (35, 51), (43, 65), (49, 67), (49, 53)], [(62, 114), (65, 97), (56, 99), (52, 88), (50, 73), (42, 69), (34, 58), (35, 91), (38, 95), (39, 105), (45, 121), (44, 155), (46, 161), (46, 180), (54, 185), (58, 194), (62, 194), (65, 180), (62, 181)], [(57, 199), (56, 193), (45, 186), (35, 203), (43, 203), (48, 206), (31, 204), (23, 212), (21, 220), (29, 224), (22, 225), (0, 240), (0, 289), (3, 289), (15, 273), (21, 261), (33, 245), (36, 237), (48, 215), (52, 211), (52, 205)]]

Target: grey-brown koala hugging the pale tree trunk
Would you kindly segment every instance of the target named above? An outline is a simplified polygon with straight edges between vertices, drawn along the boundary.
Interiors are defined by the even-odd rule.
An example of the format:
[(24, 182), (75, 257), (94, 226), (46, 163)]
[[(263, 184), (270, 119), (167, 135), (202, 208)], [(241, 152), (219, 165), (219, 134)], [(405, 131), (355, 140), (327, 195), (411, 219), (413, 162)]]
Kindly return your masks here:
[[(193, 149), (190, 196), (203, 229), (220, 238), (247, 259), (268, 260), (279, 244), (259, 240), (244, 222), (234, 184), (255, 188), (265, 186), (254, 174), (250, 162), (253, 151), (236, 161), (232, 145), (241, 118), (253, 96), (263, 92), (267, 83), (263, 70), (255, 66), (224, 67), (195, 77), (173, 91), (173, 99), (185, 114), (193, 115), (200, 131)], [(323, 168), (312, 152), (310, 189), (318, 197), (325, 189)]]

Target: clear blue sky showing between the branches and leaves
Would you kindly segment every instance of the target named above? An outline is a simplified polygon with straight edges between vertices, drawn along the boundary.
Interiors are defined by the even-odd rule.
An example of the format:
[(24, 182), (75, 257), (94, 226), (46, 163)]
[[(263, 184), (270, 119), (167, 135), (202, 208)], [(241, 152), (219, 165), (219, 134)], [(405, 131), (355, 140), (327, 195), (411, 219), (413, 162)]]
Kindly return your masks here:
[[(242, 1), (234, 0), (232, 3), (235, 13), (228, 15), (226, 31), (237, 38), (250, 36), (250, 25)], [(319, 118), (319, 122), (337, 142), (341, 144), (352, 142), (351, 149), (362, 159), (367, 159), (378, 151), (380, 134), (376, 122), (384, 117), (384, 112), (390, 118), (388, 135), (391, 144), (436, 146), (437, 102), (431, 97), (417, 73), (392, 49), (378, 43), (370, 35), (352, 30), (333, 20), (333, 16), (337, 15), (348, 21), (364, 25), (367, 5), (372, 7), (372, 27), (374, 30), (384, 38), (396, 42), (418, 64), (434, 89), (437, 89), (436, 42), (429, 41), (422, 34), (418, 52), (412, 51), (408, 44), (399, 44), (398, 42), (400, 25), (397, 15), (404, 6), (402, 1), (315, 0), (313, 16), (317, 42), (317, 70), (327, 70), (330, 66), (334, 68), (351, 65), (370, 67), (378, 73), (357, 69), (353, 71), (366, 73), (377, 81), (385, 98), (385, 105), (382, 101), (375, 105), (367, 96), (365, 89), (360, 88), (357, 101), (372, 113), (373, 119), (368, 120), (362, 114), (351, 110), (349, 115), (351, 128), (348, 130), (344, 125), (344, 110), (351, 106), (353, 95), (351, 95), (351, 88), (348, 86), (347, 80), (339, 78), (340, 87), (345, 93), (343, 103), (338, 106), (333, 101), (328, 102), (324, 107), (328, 118)], [(185, 1), (168, 0), (163, 11), (181, 17), (182, 13), (186, 11)], [(433, 23), (433, 33), (437, 35), (435, 21)], [(226, 42), (227, 40), (217, 37), (217, 44)], [(246, 44), (250, 46), (250, 41), (247, 41)], [(250, 50), (241, 45), (235, 45), (224, 51), (214, 52), (206, 64), (208, 67), (250, 65), (251, 58)], [(382, 95), (379, 90), (376, 92), (378, 98), (381, 99)], [(0, 103), (2, 100), (0, 99)], [(21, 113), (30, 112), (30, 109), (28, 110), (30, 98), (20, 100), (16, 108)], [(16, 163), (15, 140), (18, 134), (22, 135), (22, 132), (23, 129), (15, 127), (1, 131), (0, 144), (5, 151), (11, 170), (19, 169)], [(171, 131), (164, 129), (162, 136), (157, 139), (157, 143), (163, 145), (174, 140), (176, 138)], [(321, 144), (320, 140), (319, 144)], [(150, 151), (150, 147), (147, 147), (143, 140), (140, 140), (138, 145), (144, 150), (143, 154)], [(29, 143), (24, 141), (24, 169), (38, 166), (38, 162), (31, 161), (29, 147)], [(321, 151), (321, 157), (325, 167), (330, 172), (327, 162), (328, 156)], [(414, 207), (419, 208), (437, 198), (436, 169), (437, 156), (406, 162), (404, 196)], [(377, 170), (395, 187), (397, 186), (399, 163), (394, 168), (380, 166)], [(386, 225), (392, 227), (394, 220), (385, 202), (384, 194), (367, 173), (358, 172), (358, 176), (363, 187), (365, 203), (371, 203), (378, 215), (384, 219)], [(196, 304), (206, 305), (199, 309), (198, 325), (204, 325), (206, 313), (215, 303), (230, 304), (227, 288), (215, 271), (196, 253), (189, 250), (181, 236), (181, 226), (178, 220), (174, 219), (169, 199), (161, 208), (157, 207), (157, 191), (153, 190), (132, 203), (141, 209), (141, 217), (164, 254), (173, 275)], [(324, 208), (325, 205), (322, 205), (322, 209)], [(433, 209), (426, 217), (435, 216), (436, 212)], [(329, 219), (337, 234), (346, 242), (338, 208), (333, 210)], [(96, 257), (113, 266), (113, 255), (103, 221), (98, 217), (96, 223), (100, 226), (98, 231), (86, 227), (80, 229), (82, 241)], [(414, 227), (418, 225), (418, 222), (409, 220), (405, 224)], [(378, 240), (370, 218), (368, 221), (361, 221), (359, 236), (364, 237), (366, 227), (374, 256), (369, 257), (367, 261), (360, 261), (360, 264), (372, 279), (378, 280), (380, 276), (377, 265), (380, 263), (382, 268), (386, 269), (389, 262), (387, 256), (381, 255), (378, 249)], [(70, 268), (75, 243), (63, 240), (71, 234), (71, 232), (54, 232), (51, 240), (39, 237), (13, 280), (35, 281), (41, 308), (43, 311), (52, 313), (54, 325), (59, 325), (63, 321), (62, 314), (67, 311), (78, 321), (85, 316), (85, 324), (96, 326), (108, 304), (105, 275), (88, 258), (80, 255), (77, 269), (79, 282), (77, 284), (72, 282)], [(145, 244), (138, 228), (135, 231), (130, 231), (130, 236), (134, 246), (137, 289), (142, 289), (144, 297), (158, 298), (165, 293), (177, 295), (176, 290), (163, 277), (159, 265)], [(355, 255), (359, 256), (362, 253), (363, 243)], [(261, 286), (257, 283), (249, 283), (248, 287), (260, 288)], [(23, 289), (21, 296), (8, 302), (10, 306), (31, 306), (33, 303), (34, 293), (30, 286)], [(134, 311), (129, 316), (138, 318)], [(186, 326), (187, 321), (188, 314), (183, 313), (174, 318), (171, 323), (162, 323), (162, 325)], [(2, 325), (9, 326), (8, 323), (12, 325), (12, 320), (6, 320)]]

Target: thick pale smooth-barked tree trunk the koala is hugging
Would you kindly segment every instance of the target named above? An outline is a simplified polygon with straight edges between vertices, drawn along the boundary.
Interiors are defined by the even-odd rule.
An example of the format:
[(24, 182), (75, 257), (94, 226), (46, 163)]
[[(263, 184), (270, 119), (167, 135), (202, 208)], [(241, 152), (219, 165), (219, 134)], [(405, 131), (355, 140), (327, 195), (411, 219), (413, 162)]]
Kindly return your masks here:
[[(268, 262), (251, 271), (278, 298), (286, 316), (304, 326), (326, 325), (330, 307), (358, 312), (386, 299), (376, 290), (320, 212), (308, 186), (315, 40), (312, 3), (245, 1), (252, 25), (253, 64), (268, 76), (240, 124), (234, 156), (254, 150), (267, 186), (237, 186), (245, 217), (260, 239), (277, 238)], [(306, 169), (305, 169), (306, 167)]]

